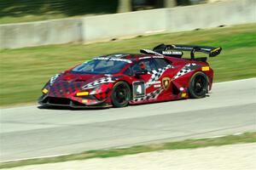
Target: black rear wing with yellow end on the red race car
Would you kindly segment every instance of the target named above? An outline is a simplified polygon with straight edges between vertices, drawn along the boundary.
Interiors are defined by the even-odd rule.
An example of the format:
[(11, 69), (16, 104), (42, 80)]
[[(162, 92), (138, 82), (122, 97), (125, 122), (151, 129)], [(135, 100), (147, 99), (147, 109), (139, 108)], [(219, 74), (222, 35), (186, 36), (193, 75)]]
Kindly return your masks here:
[[(191, 59), (195, 59), (195, 52), (201, 52), (205, 54), (209, 54), (209, 57), (215, 57), (218, 54), (220, 54), (222, 48), (214, 48), (214, 47), (208, 47), (208, 46), (197, 46), (197, 45), (179, 45), (179, 44), (172, 44), (172, 45), (165, 45), (160, 44), (153, 48), (154, 52), (157, 52), (159, 54), (168, 54), (166, 52), (170, 50), (177, 50), (177, 51), (190, 51), (190, 57)], [(172, 54), (172, 53), (170, 53)]]

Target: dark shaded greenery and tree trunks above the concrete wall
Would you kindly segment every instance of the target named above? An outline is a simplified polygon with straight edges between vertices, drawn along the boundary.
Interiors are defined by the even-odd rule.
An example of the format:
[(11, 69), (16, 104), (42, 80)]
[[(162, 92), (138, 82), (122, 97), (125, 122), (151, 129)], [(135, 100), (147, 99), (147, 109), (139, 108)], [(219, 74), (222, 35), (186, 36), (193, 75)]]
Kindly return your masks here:
[(77, 15), (114, 14), (210, 2), (214, 0), (1, 0), (0, 22), (3, 24)]

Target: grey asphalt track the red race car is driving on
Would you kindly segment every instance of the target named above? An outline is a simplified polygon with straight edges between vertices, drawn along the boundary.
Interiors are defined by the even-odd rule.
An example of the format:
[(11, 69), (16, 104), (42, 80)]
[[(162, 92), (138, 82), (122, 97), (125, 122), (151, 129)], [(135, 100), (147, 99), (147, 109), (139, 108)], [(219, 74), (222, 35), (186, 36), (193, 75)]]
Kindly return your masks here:
[(1, 110), (1, 160), (256, 131), (256, 78), (213, 85), (205, 99), (103, 110)]

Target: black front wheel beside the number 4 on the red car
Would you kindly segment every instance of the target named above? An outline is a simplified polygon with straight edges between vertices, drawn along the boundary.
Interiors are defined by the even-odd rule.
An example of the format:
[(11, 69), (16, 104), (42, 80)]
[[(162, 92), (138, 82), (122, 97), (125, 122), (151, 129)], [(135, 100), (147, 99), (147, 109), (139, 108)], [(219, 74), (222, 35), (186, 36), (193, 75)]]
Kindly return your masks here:
[(113, 86), (111, 100), (113, 107), (125, 107), (131, 99), (131, 88), (126, 82), (117, 82)]

